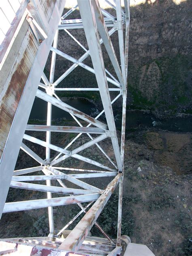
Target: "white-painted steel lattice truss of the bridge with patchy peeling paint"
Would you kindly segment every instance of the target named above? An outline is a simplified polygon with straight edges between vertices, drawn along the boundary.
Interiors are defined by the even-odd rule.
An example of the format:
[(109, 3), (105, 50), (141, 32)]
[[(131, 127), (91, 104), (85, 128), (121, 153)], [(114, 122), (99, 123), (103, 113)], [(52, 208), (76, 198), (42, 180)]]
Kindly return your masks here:
[[(35, 53), (37, 60), (35, 59), (36, 62), (34, 61), (34, 64), (31, 67), (1, 156), (0, 171), (2, 175), (2, 186), (0, 189), (0, 212), (8, 213), (13, 211), (24, 211), (47, 207), (49, 213), (49, 236), (9, 239), (9, 241), (17, 245), (16, 247), (18, 252), (19, 246), (22, 248), (28, 246), (31, 248), (31, 253), (35, 247), (36, 252), (39, 253), (36, 255), (44, 255), (43, 250), (45, 250), (45, 248), (49, 253), (65, 253), (57, 255), (68, 255), (69, 252), (73, 252), (73, 254), (76, 253), (77, 255), (121, 254), (123, 241), (121, 235), (121, 221), (122, 189), (124, 179), (128, 33), (130, 21), (129, 1), (124, 0), (123, 9), (120, 0), (105, 0), (109, 7), (115, 10), (115, 17), (105, 9), (101, 9), (98, 0), (78, 0), (77, 5), (68, 10), (64, 15), (62, 15), (62, 9), (64, 8), (65, 1), (53, 1), (56, 2), (54, 8), (57, 11), (53, 9), (51, 14), (52, 16), (50, 16), (52, 23), (50, 22), (49, 25), (45, 24), (43, 14), (41, 16), (41, 10), (39, 11), (39, 4), (41, 1), (34, 0), (31, 2), (34, 4), (36, 9), (28, 8), (28, 14), (25, 17), (30, 24), (30, 29), (32, 30), (33, 35), (38, 38), (38, 43), (40, 46), (38, 51)], [(70, 14), (76, 9), (79, 9), (81, 19), (69, 19)], [(33, 13), (33, 10), (36, 11)], [(55, 24), (58, 23), (59, 25), (56, 26)], [(77, 39), (77, 37), (74, 36), (75, 33), (73, 30), (77, 31), (77, 29), (84, 30), (88, 49), (86, 49)], [(66, 52), (58, 49), (58, 36), (60, 31), (63, 30), (66, 35), (68, 34), (83, 49), (83, 51), (85, 51), (85, 53), (78, 60), (68, 55)], [(120, 56), (120, 62), (117, 60), (117, 53), (115, 53), (110, 38), (113, 33), (116, 33), (118, 36), (118, 55)], [(53, 44), (51, 46), (52, 40)], [(111, 66), (113, 66), (114, 70), (113, 74), (109, 73), (109, 71), (105, 68), (101, 49), (102, 44), (105, 46), (105, 49), (109, 55)], [(41, 49), (43, 50), (41, 51)], [(48, 57), (49, 50), (51, 51), (52, 56), (50, 77), (48, 79), (45, 73), (42, 71), (45, 66), (44, 58)], [(43, 51), (45, 53), (45, 57), (42, 57)], [(57, 55), (65, 58), (72, 64), (70, 68), (65, 70), (65, 72), (55, 80), (54, 75), (55, 69), (57, 69)], [(93, 67), (87, 66), (83, 63), (83, 61), (89, 56), (91, 57)], [(40, 61), (41, 58), (43, 58), (42, 63)], [(61, 86), (63, 79), (65, 79), (78, 66), (93, 73), (96, 77), (97, 85), (90, 88), (69, 88)], [(41, 81), (40, 78), (42, 79)], [(74, 107), (63, 102), (58, 96), (58, 92), (60, 91), (78, 91), (79, 93), (84, 91), (93, 93), (99, 92), (103, 110), (96, 117), (87, 115), (86, 113), (83, 113), (82, 111), (75, 109)], [(115, 93), (117, 96), (114, 96)], [(26, 125), (35, 96), (47, 102), (46, 125)], [(111, 98), (113, 98), (113, 100), (111, 100)], [(121, 98), (122, 129), (121, 138), (118, 140), (112, 105), (116, 100)], [(51, 114), (53, 105), (70, 113), (71, 117), (77, 123), (77, 126), (53, 125), (53, 117)], [(24, 114), (23, 108), (25, 109)], [(102, 115), (105, 116), (106, 122), (104, 122), (103, 119), (100, 119)], [(27, 132), (25, 132), (25, 130)], [(43, 141), (33, 137), (31, 135), (32, 131), (41, 131), (46, 133), (46, 140)], [(70, 143), (68, 143), (68, 145), (65, 147), (59, 147), (54, 145), (54, 142), (51, 139), (52, 132), (59, 132), (61, 134), (71, 132), (76, 133), (77, 136), (75, 136), (75, 138), (73, 138), (73, 140), (71, 140)], [(75, 145), (74, 143), (77, 141), (77, 139), (81, 139), (82, 134), (87, 134), (89, 141), (83, 145), (80, 145), (79, 147), (76, 147), (75, 149), (70, 149), (73, 145)], [(110, 158), (111, 154), (109, 156), (109, 152), (106, 152), (102, 147), (102, 141), (105, 141), (107, 138), (108, 141), (109, 139), (111, 140), (115, 160), (112, 160)], [(37, 153), (35, 153), (34, 147), (30, 148), (27, 146), (27, 141), (33, 143), (34, 147), (36, 144), (44, 147), (46, 159), (42, 159)], [(105, 157), (105, 164), (93, 160), (91, 155), (90, 157), (83, 156), (83, 150), (92, 148), (93, 146), (96, 146), (100, 150), (101, 154)], [(29, 166), (27, 169), (15, 170), (13, 172), (13, 168), (19, 153), (19, 147), (31, 158), (36, 160), (38, 165), (35, 167)], [(51, 157), (51, 150), (56, 151), (57, 153), (54, 158)], [(82, 152), (82, 154), (80, 152)], [(93, 152), (94, 151), (92, 151), (92, 155), (94, 154)], [(77, 159), (86, 163), (88, 166), (91, 164), (95, 167), (94, 169), (80, 169), (74, 166), (66, 167), (65, 160), (68, 158)], [(70, 174), (70, 172), (72, 174)], [(94, 181), (94, 178), (98, 177), (102, 177), (103, 179), (111, 178), (111, 181), (106, 188), (98, 188), (96, 185), (93, 186), (93, 184), (90, 185), (84, 180), (81, 180), (89, 178), (93, 179)], [(73, 186), (72, 188), (66, 187), (64, 180), (70, 181), (81, 189), (73, 188)], [(37, 183), (37, 181), (46, 181), (46, 185), (42, 185), (42, 182)], [(53, 181), (57, 181), (58, 186), (53, 186)], [(119, 185), (117, 239), (113, 240), (105, 233), (105, 230), (103, 230), (96, 221), (117, 185)], [(9, 187), (46, 192), (47, 198), (5, 203)], [(53, 193), (58, 194), (58, 196), (53, 196)], [(63, 195), (61, 196), (59, 194)], [(85, 202), (87, 202), (87, 206), (82, 205), (82, 203)], [(53, 207), (70, 205), (74, 203), (79, 206), (79, 213), (75, 215), (74, 218), (61, 230), (57, 230), (57, 228), (54, 226)], [(75, 228), (66, 236), (66, 238), (61, 237), (61, 235), (64, 234), (64, 230), (66, 230), (66, 228), (68, 228), (68, 226), (73, 223), (74, 220), (76, 220), (82, 213), (85, 213), (85, 215), (79, 221), (77, 226), (75, 226)], [(101, 231), (101, 233), (105, 236), (105, 239), (96, 237), (90, 238), (88, 236), (93, 225), (95, 225)], [(7, 239), (6, 241), (1, 240), (1, 246), (3, 247), (6, 242)], [(8, 251), (14, 252), (16, 247)]]

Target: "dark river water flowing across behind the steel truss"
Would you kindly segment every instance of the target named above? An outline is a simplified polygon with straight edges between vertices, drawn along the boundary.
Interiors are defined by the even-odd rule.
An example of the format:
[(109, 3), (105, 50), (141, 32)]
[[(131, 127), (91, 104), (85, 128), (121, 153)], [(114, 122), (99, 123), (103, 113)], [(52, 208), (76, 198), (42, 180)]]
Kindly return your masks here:
[[(91, 103), (89, 100), (83, 98), (70, 98), (65, 100), (65, 103), (81, 110), (82, 112), (96, 117), (100, 110), (97, 109), (96, 105)], [(114, 111), (115, 123), (117, 128), (121, 128), (121, 114)], [(47, 115), (47, 102), (36, 98), (30, 119), (42, 119), (45, 120)], [(72, 119), (69, 113), (59, 109), (55, 106), (52, 108), (52, 119), (67, 118)], [(100, 120), (104, 119), (104, 115), (101, 116)], [(156, 127), (162, 130), (169, 130), (173, 132), (192, 132), (192, 117), (175, 117), (171, 119), (157, 119), (154, 115), (143, 113), (142, 111), (127, 111), (126, 115), (126, 129), (134, 128), (151, 128)]]

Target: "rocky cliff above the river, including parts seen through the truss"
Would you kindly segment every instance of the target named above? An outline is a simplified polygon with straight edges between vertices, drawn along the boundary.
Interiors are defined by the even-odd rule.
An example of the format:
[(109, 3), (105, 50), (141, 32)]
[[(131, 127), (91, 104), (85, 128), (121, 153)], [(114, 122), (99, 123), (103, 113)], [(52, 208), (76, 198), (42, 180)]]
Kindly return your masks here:
[[(160, 117), (192, 114), (191, 10), (189, 0), (180, 4), (172, 0), (149, 0), (130, 7), (128, 108), (149, 109)], [(77, 16), (78, 11), (70, 19)], [(87, 48), (83, 30), (70, 32)], [(111, 39), (119, 58), (117, 32)], [(60, 32), (58, 42), (58, 48), (74, 58), (84, 53), (64, 31)], [(115, 75), (103, 46), (102, 54), (105, 67)], [(90, 57), (84, 63), (92, 66)], [(60, 56), (57, 64), (56, 78), (71, 65)], [(49, 67), (50, 59), (47, 70)], [(90, 87), (96, 85), (96, 80), (92, 73), (78, 67), (61, 85)]]

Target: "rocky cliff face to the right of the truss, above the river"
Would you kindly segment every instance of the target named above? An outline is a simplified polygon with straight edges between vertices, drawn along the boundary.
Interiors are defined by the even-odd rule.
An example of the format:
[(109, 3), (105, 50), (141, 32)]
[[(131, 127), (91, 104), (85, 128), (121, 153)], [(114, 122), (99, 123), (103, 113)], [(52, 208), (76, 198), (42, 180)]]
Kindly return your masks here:
[(191, 1), (131, 7), (128, 84), (134, 107), (190, 113), (191, 10)]

